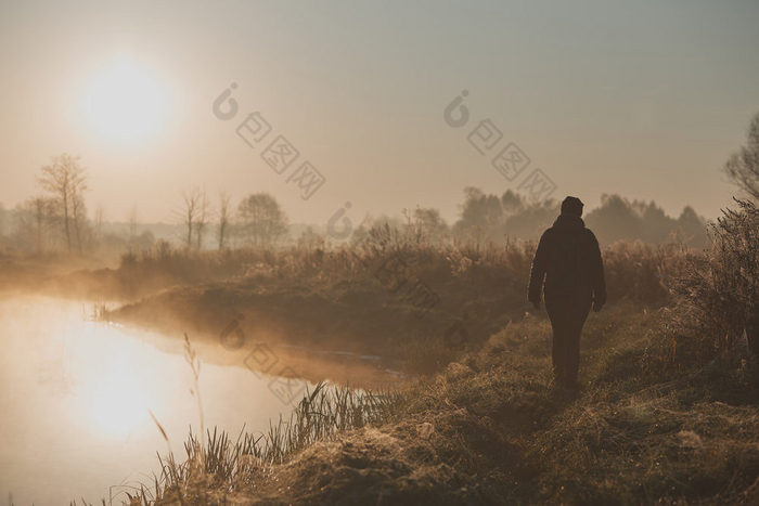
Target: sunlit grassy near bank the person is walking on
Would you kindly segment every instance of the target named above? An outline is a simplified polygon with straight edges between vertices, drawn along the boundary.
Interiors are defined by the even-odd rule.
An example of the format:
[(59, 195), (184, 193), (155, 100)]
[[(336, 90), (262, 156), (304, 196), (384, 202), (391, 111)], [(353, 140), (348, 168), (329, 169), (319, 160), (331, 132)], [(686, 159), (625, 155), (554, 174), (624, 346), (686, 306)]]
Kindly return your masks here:
[(169, 479), (157, 504), (756, 504), (757, 365), (739, 346), (689, 365), (672, 354), (667, 317), (633, 303), (593, 314), (571, 401), (550, 385), (546, 319), (524, 319), (382, 416), (279, 460), (250, 450), (231, 481)]

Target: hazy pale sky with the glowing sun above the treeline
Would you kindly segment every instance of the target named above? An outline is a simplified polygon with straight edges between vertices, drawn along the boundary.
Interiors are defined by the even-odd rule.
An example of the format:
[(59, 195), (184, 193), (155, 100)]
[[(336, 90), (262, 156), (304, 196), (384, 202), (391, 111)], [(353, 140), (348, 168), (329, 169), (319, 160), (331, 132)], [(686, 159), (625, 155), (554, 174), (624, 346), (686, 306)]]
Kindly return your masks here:
[[(759, 1), (0, 3), (0, 202), (33, 195), (53, 155), (81, 155), (90, 210), (171, 221), (181, 192), (273, 194), (293, 221), (416, 205), (458, 213), (535, 168), (554, 196), (730, 202), (719, 172), (759, 112)], [(239, 113), (211, 111), (231, 82)], [(467, 90), (469, 121), (443, 109)], [(236, 127), (272, 130), (249, 147)], [(515, 181), (467, 135), (490, 119), (530, 166)], [(299, 157), (261, 158), (276, 135)], [(304, 200), (308, 160), (326, 179)]]

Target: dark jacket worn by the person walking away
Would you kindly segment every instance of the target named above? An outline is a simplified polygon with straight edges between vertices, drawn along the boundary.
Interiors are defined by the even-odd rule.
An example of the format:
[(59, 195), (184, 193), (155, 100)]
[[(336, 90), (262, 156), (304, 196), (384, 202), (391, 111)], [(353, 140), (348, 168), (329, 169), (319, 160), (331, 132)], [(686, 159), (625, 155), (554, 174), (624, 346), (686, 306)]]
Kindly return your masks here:
[(581, 218), (561, 215), (540, 237), (528, 288), (531, 302), (540, 302), (543, 278), (546, 299), (592, 299), (600, 306), (606, 302), (599, 242)]

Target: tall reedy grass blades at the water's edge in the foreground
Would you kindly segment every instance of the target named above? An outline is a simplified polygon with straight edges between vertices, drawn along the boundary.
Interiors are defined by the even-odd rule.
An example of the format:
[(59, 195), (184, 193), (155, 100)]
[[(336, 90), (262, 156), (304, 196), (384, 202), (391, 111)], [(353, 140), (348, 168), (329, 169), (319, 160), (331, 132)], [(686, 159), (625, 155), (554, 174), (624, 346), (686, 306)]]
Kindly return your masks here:
[(320, 441), (331, 441), (351, 429), (381, 425), (400, 410), (395, 393), (373, 393), (321, 382), (307, 392), (290, 419), (270, 424), (263, 433), (236, 439), (215, 428), (206, 438), (190, 433), (186, 458), (160, 458), (162, 471), (145, 495), (155, 504), (215, 504), (218, 496), (255, 490), (272, 469)]

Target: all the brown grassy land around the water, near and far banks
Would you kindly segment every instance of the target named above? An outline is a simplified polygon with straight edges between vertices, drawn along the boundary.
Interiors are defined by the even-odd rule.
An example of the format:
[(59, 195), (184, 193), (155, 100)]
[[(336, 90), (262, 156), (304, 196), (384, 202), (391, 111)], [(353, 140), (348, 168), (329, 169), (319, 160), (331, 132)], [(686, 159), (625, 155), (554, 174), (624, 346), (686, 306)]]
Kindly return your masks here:
[[(170, 272), (108, 320), (219, 346), (224, 319), (242, 313), (246, 335), (377, 353), (409, 374), (374, 390), (319, 382), (268, 433), (191, 434), (134, 502), (756, 504), (756, 334), (750, 321), (735, 330), (752, 308), (734, 276), (749, 257), (731, 249), (756, 230), (741, 223), (716, 228), (707, 251), (605, 249), (609, 302), (586, 324), (577, 399), (553, 388), (550, 324), (524, 302), (530, 243), (146, 252), (89, 272), (90, 290)], [(406, 282), (377, 276), (388, 259)], [(439, 301), (403, 296), (414, 280)], [(709, 311), (730, 297), (738, 316)]]

